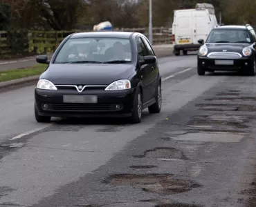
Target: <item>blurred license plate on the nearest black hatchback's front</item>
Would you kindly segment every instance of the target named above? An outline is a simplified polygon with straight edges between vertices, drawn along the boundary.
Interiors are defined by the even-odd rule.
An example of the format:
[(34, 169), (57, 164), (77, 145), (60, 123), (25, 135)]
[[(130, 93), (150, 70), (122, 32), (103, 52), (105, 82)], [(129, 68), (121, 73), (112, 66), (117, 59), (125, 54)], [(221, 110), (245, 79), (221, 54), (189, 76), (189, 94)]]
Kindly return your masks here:
[(97, 103), (97, 96), (89, 95), (64, 95), (63, 103)]

